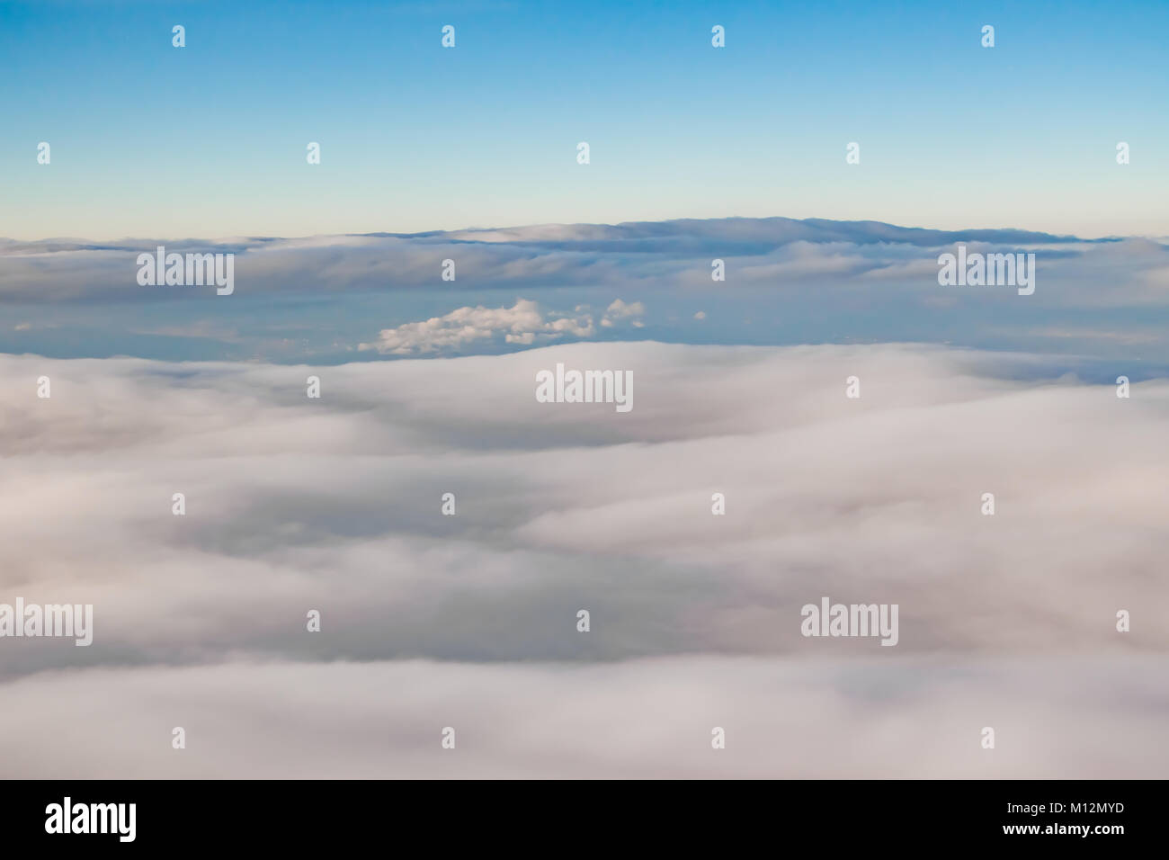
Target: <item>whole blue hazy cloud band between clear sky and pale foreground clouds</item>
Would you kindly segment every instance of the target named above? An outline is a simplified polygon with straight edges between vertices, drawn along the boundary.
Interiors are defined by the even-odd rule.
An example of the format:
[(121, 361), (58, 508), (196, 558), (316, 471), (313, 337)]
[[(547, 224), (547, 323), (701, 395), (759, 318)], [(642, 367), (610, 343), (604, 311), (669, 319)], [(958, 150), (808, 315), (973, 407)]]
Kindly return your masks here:
[[(1035, 295), (939, 284), (938, 257), (957, 242), (1035, 253)], [(35, 319), (29, 332), (0, 331), (0, 351), (337, 364), (577, 337), (703, 340), (715, 336), (708, 326), (677, 323), (718, 302), (725, 343), (941, 342), (1113, 358), (1136, 343), (1142, 360), (1169, 365), (1169, 248), (1150, 239), (715, 219), (165, 242), (174, 253), (236, 254), (229, 297), (138, 285), (137, 254), (158, 243), (0, 241), (0, 301)], [(713, 259), (725, 263), (722, 282), (711, 281)], [(457, 281), (442, 280), (444, 260)], [(540, 308), (517, 310), (517, 296)], [(552, 310), (574, 307), (582, 310)], [(1042, 328), (1120, 336), (1036, 335)], [(167, 333), (180, 330), (195, 333)]]

